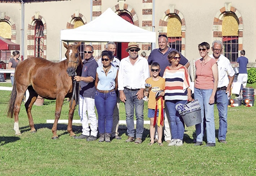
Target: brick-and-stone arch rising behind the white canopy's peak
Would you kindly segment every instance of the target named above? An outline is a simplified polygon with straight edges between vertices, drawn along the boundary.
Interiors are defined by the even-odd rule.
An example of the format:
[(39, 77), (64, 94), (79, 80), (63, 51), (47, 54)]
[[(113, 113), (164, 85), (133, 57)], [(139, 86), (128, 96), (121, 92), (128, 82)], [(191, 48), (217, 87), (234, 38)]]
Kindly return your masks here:
[(131, 15), (133, 18), (134, 25), (139, 27), (139, 18), (137, 13), (135, 12), (134, 8), (128, 4), (124, 4), (123, 2), (119, 1), (119, 4), (112, 7), (112, 10), (118, 14), (120, 12), (126, 12)]

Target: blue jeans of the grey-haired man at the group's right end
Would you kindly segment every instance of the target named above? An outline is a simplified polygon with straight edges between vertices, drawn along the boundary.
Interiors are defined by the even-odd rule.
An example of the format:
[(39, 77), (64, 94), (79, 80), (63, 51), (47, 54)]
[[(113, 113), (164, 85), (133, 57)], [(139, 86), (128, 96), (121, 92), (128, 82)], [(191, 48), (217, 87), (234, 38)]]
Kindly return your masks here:
[(227, 133), (227, 106), (228, 97), (226, 90), (218, 90), (215, 95), (219, 111), (219, 140), (226, 140)]

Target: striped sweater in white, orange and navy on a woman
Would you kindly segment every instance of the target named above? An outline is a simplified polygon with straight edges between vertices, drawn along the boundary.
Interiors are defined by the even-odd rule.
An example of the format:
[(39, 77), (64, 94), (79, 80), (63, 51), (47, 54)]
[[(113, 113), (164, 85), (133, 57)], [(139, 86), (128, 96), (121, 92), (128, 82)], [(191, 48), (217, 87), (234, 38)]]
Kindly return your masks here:
[(186, 67), (171, 70), (167, 66), (164, 70), (165, 100), (187, 100), (187, 88), (190, 86), (189, 74)]

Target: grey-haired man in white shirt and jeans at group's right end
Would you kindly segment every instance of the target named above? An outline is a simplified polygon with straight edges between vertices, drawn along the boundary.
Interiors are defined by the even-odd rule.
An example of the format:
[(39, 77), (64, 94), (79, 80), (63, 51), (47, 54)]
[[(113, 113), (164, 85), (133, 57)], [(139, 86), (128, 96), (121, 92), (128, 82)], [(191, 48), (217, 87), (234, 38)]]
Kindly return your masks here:
[[(215, 99), (219, 111), (219, 135), (218, 141), (221, 143), (226, 142), (227, 133), (227, 106), (228, 96), (231, 94), (231, 85), (234, 80), (234, 70), (230, 64), (229, 59), (222, 55), (223, 44), (219, 40), (212, 42), (212, 55), (211, 58), (215, 59), (218, 64), (219, 83)], [(228, 95), (227, 95), (228, 93)]]

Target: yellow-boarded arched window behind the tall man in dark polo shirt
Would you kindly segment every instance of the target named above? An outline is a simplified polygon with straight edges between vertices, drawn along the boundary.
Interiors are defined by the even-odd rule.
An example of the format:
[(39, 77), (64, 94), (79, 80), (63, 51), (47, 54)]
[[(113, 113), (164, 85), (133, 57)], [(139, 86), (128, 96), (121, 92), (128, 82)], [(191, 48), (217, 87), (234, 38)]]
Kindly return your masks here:
[(173, 14), (168, 18), (167, 37), (169, 46), (171, 48), (177, 49), (177, 51), (181, 53), (181, 19), (176, 14)]

